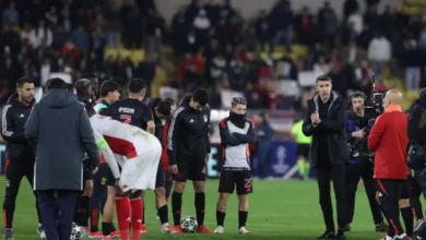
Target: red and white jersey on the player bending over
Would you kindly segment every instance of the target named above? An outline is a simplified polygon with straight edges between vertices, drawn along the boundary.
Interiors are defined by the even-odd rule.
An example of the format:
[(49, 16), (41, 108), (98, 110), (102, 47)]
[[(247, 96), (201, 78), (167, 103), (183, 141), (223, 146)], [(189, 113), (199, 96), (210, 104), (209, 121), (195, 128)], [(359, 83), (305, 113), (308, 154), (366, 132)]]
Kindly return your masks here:
[(94, 115), (90, 120), (97, 147), (116, 178), (120, 176), (117, 164), (122, 167), (126, 159), (144, 154), (156, 144), (153, 142), (158, 142), (149, 132), (110, 117)]

